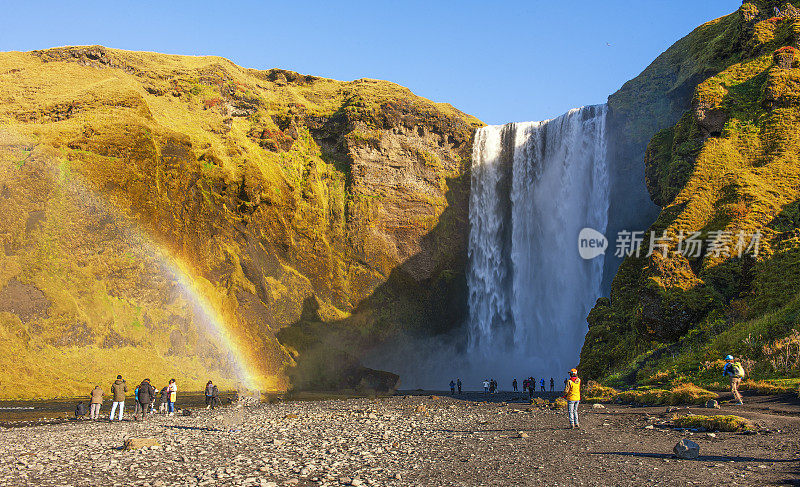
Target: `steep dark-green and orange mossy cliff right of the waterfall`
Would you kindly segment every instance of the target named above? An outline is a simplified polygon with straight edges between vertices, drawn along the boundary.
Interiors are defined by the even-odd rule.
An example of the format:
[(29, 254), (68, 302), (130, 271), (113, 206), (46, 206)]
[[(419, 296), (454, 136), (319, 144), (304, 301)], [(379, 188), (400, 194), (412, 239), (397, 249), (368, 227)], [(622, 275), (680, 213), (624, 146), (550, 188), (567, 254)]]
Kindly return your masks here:
[[(648, 232), (642, 255), (622, 263), (610, 300), (592, 310), (581, 353), (587, 375), (713, 381), (728, 353), (757, 377), (800, 373), (792, 352), (800, 347), (798, 39), (800, 9), (746, 2), (621, 90), (628, 99), (640, 93), (644, 108), (661, 103), (640, 132), (677, 120), (654, 134), (645, 155), (647, 188), (661, 207), (650, 231), (669, 243), (646, 256)], [(676, 66), (673, 76), (660, 71), (662, 61)], [(692, 234), (702, 242), (697, 251), (679, 248)]]

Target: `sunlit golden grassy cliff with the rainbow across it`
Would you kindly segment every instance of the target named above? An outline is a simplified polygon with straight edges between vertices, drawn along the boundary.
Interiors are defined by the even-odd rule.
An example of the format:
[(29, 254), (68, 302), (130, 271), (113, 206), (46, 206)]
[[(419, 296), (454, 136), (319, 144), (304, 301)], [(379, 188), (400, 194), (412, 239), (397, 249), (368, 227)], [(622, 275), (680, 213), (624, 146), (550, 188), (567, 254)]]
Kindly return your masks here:
[(449, 105), (103, 47), (0, 54), (0, 99), (0, 397), (281, 389), (321, 336), (353, 369), (458, 319), (480, 122)]

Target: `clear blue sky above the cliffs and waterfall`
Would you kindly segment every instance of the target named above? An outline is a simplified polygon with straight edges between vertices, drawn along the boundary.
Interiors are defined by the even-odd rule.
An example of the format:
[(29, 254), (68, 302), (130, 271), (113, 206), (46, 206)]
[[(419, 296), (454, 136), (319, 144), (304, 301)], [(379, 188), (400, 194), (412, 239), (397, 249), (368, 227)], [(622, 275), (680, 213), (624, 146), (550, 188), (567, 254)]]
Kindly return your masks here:
[(491, 123), (602, 103), (740, 0), (4, 1), (0, 50), (102, 44), (380, 78)]

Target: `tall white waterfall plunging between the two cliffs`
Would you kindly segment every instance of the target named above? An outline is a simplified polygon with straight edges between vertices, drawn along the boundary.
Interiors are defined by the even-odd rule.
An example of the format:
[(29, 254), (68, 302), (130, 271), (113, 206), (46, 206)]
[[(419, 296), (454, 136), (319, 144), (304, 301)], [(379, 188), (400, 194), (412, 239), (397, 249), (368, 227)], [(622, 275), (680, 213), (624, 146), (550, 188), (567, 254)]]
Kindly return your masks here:
[(595, 105), (475, 134), (468, 350), (486, 377), (563, 377), (578, 363), (601, 292), (603, 256), (582, 259), (578, 233), (606, 230), (605, 120)]

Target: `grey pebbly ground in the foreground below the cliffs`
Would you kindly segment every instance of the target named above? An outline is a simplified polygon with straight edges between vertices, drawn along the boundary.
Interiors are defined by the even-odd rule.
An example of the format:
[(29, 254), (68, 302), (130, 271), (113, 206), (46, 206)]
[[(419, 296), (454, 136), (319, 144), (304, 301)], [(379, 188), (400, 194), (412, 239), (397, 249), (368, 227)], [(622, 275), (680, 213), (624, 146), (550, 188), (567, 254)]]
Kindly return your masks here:
[[(582, 405), (582, 428), (570, 430), (564, 411), (499, 402), (517, 398), (281, 402), (6, 428), (0, 485), (800, 485), (800, 407), (788, 396), (712, 412), (751, 419), (750, 435), (678, 431), (664, 407), (622, 405)], [(698, 460), (673, 458), (684, 437), (700, 444)], [(159, 446), (125, 450), (129, 438)]]

